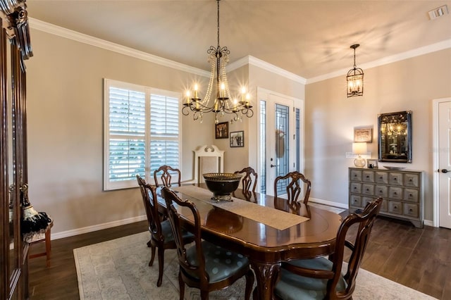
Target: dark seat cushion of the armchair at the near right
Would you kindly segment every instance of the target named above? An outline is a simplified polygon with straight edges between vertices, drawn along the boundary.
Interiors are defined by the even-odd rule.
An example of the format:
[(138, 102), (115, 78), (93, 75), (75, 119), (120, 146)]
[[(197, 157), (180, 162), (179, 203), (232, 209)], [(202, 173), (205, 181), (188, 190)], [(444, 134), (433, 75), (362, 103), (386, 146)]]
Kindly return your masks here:
[[(331, 270), (332, 262), (327, 258), (299, 259), (290, 261), (290, 264), (302, 268)], [(280, 280), (274, 289), (274, 293), (281, 299), (324, 299), (326, 296), (327, 279), (299, 276), (294, 273), (280, 269)], [(345, 290), (347, 284), (343, 276), (340, 276), (336, 291)]]

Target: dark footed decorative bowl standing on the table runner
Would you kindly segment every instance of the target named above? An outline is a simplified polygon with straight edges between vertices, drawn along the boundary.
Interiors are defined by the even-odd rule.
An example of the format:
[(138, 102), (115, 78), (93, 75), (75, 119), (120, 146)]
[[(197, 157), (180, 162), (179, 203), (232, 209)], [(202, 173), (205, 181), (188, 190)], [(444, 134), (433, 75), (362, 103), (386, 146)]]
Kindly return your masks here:
[(206, 187), (213, 192), (212, 199), (216, 201), (230, 201), (230, 194), (240, 185), (240, 174), (233, 173), (206, 173), (203, 175)]

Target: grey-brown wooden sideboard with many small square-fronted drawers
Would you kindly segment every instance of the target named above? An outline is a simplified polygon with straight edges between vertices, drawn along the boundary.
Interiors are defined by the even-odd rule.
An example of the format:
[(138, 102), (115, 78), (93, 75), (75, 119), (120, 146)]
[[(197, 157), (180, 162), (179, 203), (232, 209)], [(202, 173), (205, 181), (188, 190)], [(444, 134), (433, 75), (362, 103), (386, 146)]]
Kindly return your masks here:
[(379, 215), (409, 220), (422, 228), (424, 222), (423, 172), (349, 168), (350, 212), (362, 210), (369, 201), (383, 198)]

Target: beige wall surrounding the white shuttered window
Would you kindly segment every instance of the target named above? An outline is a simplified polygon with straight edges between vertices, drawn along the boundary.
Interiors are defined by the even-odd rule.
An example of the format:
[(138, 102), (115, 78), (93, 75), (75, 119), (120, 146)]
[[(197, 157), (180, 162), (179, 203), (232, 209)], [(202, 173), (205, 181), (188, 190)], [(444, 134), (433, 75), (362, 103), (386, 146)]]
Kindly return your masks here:
[[(207, 78), (32, 30), (27, 65), (30, 201), (55, 219), (53, 232), (144, 215), (138, 189), (102, 191), (103, 78), (183, 93)], [(183, 117), (183, 180), (194, 150), (214, 141), (204, 123)]]

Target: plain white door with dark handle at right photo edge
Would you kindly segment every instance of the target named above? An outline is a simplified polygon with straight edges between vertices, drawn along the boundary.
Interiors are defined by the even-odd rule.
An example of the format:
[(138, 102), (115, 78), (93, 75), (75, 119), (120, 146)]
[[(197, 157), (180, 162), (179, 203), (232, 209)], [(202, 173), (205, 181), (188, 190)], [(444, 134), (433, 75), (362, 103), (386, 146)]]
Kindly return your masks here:
[(451, 228), (451, 99), (438, 104), (439, 226)]

